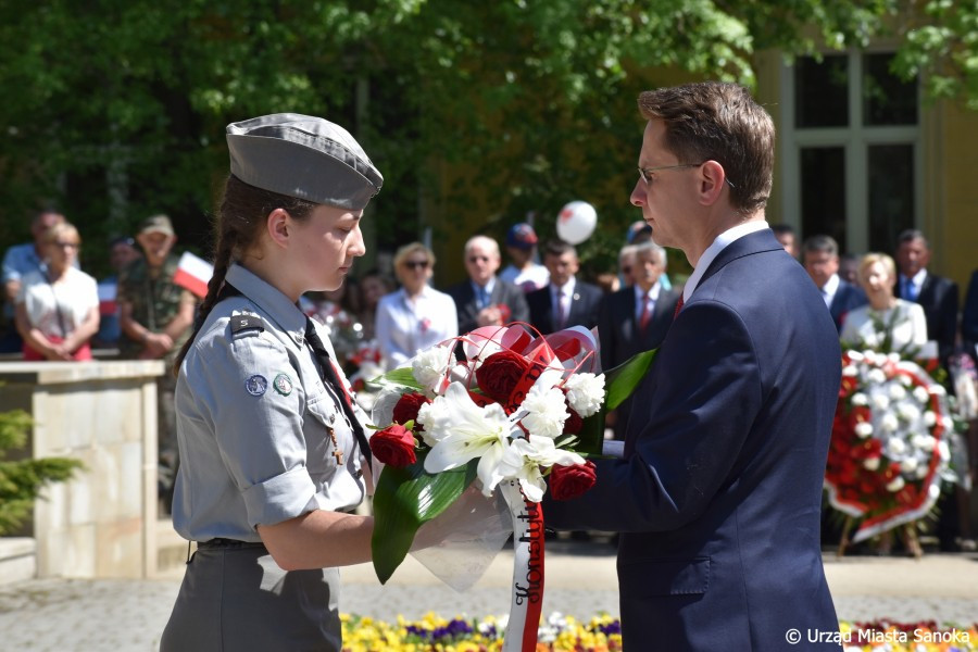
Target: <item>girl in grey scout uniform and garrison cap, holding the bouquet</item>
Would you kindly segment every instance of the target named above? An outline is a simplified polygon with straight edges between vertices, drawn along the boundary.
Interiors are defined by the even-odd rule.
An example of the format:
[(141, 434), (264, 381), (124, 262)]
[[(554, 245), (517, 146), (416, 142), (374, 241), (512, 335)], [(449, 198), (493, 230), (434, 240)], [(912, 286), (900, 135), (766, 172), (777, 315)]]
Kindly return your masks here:
[(369, 448), (333, 347), (297, 306), (365, 249), (383, 177), (343, 128), (227, 127), (214, 276), (177, 360), (173, 523), (198, 542), (161, 650), (340, 650), (337, 566), (369, 560)]

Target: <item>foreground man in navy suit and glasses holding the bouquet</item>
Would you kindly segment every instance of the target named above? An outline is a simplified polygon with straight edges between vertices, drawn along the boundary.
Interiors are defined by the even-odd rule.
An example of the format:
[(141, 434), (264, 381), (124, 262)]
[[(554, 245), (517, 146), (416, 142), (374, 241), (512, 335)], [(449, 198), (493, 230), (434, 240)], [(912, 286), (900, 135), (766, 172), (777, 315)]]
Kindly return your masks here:
[(624, 460), (598, 460), (578, 499), (548, 493), (544, 518), (620, 532), (625, 650), (840, 650), (811, 641), (838, 631), (818, 529), (841, 351), (764, 221), (774, 124), (732, 84), (647, 91), (639, 108), (631, 203), (693, 273)]

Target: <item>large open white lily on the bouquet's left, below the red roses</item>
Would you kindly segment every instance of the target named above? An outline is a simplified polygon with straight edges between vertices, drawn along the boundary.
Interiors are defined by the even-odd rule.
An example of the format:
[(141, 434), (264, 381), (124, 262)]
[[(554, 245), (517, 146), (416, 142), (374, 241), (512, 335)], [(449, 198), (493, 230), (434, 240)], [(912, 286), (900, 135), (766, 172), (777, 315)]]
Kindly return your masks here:
[(501, 405), (479, 408), (461, 383), (452, 383), (444, 396), (424, 405), (417, 421), (425, 427), (425, 442), (431, 447), (425, 471), (441, 473), (479, 457), (478, 476), (484, 487), (491, 481), (514, 427)]

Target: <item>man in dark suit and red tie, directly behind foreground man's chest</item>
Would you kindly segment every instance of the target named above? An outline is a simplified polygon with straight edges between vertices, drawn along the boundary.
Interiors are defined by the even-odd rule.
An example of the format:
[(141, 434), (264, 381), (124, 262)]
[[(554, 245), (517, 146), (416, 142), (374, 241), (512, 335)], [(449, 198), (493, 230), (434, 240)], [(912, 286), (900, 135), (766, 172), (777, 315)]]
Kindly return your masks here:
[[(655, 242), (635, 246), (635, 285), (607, 294), (598, 312), (601, 367), (616, 367), (636, 353), (657, 348), (665, 339), (679, 292), (660, 284), (666, 271), (665, 249)], [(625, 439), (631, 398), (615, 410), (615, 439)]]

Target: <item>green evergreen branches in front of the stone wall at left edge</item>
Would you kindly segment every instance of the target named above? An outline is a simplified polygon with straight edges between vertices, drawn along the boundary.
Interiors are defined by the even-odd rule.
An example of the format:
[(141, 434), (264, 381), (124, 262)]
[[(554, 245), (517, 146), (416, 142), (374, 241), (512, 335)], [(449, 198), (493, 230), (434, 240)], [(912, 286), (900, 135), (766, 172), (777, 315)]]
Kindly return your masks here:
[(65, 457), (5, 460), (7, 451), (24, 448), (30, 424), (23, 410), (0, 413), (0, 535), (15, 530), (30, 516), (46, 485), (67, 480), (82, 467), (78, 460)]

